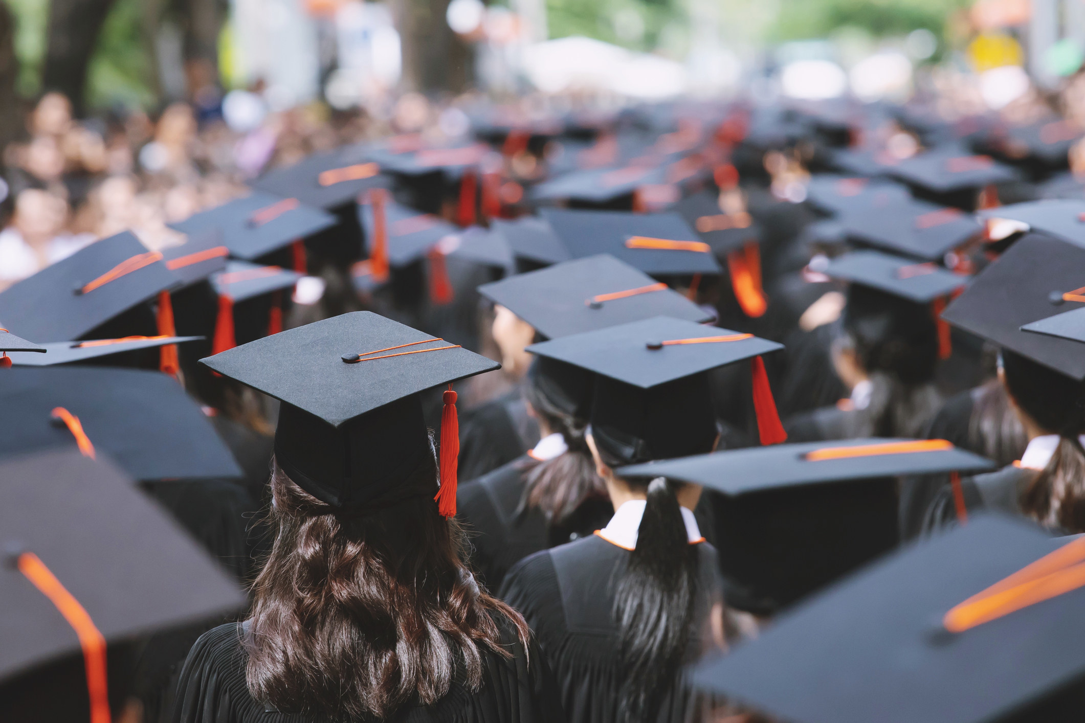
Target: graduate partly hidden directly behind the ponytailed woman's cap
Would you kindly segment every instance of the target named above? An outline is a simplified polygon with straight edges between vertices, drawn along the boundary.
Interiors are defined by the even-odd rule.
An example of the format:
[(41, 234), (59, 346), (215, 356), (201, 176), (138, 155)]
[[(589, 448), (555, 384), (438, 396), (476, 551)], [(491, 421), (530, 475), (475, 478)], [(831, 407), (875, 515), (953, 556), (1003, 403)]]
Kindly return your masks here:
[[(689, 299), (605, 254), (485, 284), (478, 291), (500, 305), (500, 313), (525, 327), (524, 343), (663, 313), (709, 321)], [(591, 374), (538, 357), (528, 366), (523, 396), (539, 427), (539, 442), (463, 486), (457, 503), (459, 519), (472, 534), (471, 563), (495, 591), (520, 559), (590, 535), (614, 514), (585, 440)]]

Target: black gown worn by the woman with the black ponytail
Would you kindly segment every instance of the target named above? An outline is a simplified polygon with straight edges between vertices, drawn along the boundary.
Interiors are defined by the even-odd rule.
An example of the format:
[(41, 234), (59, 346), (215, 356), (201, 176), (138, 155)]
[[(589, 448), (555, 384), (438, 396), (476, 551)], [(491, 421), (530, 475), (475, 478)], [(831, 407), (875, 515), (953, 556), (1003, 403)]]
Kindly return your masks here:
[[(720, 599), (716, 551), (697, 545), (701, 599), (687, 662), (702, 648), (709, 611)], [(591, 535), (536, 553), (505, 578), (501, 597), (527, 620), (550, 663), (570, 723), (625, 723), (617, 718), (623, 675), (612, 582), (628, 564), (629, 551)], [(701, 721), (707, 701), (689, 687), (687, 673), (663, 697), (654, 723)]]

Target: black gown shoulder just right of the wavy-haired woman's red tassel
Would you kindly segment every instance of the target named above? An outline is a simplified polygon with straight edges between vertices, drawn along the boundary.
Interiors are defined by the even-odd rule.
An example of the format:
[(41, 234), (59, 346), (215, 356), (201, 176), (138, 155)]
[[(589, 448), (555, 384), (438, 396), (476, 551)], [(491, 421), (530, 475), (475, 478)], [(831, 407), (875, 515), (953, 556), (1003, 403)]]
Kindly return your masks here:
[(527, 414), (520, 388), (460, 415), (458, 476), (482, 477), (512, 462), (539, 441), (538, 424)]

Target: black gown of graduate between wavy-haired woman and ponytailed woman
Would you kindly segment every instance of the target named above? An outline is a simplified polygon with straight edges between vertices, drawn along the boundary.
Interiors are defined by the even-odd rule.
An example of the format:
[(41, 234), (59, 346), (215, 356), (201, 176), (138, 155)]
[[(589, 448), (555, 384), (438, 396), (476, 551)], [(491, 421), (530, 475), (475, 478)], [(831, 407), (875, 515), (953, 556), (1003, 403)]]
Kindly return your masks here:
[(549, 525), (539, 508), (520, 509), (527, 473), (536, 465), (524, 455), (470, 485), (460, 487), (456, 517), (471, 537), (471, 565), (490, 591), (501, 588), (506, 572), (524, 557), (605, 527), (614, 515), (609, 498), (589, 498), (559, 525)]

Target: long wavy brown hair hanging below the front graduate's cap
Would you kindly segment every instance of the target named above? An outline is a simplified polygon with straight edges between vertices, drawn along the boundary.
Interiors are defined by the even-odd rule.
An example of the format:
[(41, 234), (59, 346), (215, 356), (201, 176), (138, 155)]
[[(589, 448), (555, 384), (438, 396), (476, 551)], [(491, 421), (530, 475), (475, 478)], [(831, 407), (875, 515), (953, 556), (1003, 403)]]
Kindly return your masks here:
[[(436, 463), (414, 473), (434, 480)], [(417, 480), (416, 480), (417, 481)], [(508, 656), (496, 617), (527, 625), (480, 589), (455, 519), (429, 495), (341, 516), (271, 475), (275, 543), (253, 588), (246, 680), (283, 712), (385, 719), (430, 705), (454, 675), (477, 689), (483, 648)]]

